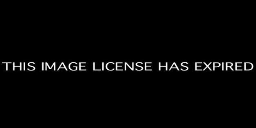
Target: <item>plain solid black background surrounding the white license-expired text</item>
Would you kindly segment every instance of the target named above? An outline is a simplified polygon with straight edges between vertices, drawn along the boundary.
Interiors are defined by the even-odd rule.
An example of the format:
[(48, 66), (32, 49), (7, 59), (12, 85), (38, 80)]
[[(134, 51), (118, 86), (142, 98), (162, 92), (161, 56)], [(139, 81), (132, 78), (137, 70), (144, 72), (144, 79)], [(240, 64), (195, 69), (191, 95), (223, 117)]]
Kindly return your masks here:
[[(2, 9), (1, 62), (153, 62), (154, 71), (6, 72), (1, 66), (6, 121), (159, 126), (251, 120), (255, 69), (193, 71), (194, 62), (255, 64), (249, 4), (23, 4)], [(158, 62), (188, 62), (190, 70), (159, 72)]]

